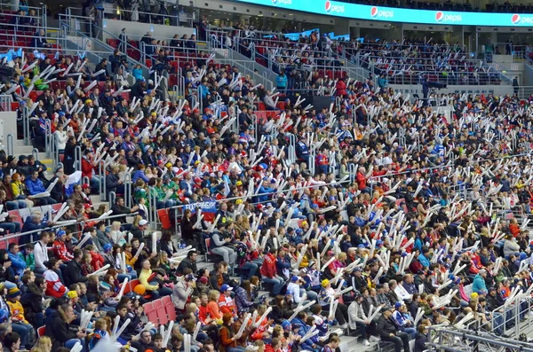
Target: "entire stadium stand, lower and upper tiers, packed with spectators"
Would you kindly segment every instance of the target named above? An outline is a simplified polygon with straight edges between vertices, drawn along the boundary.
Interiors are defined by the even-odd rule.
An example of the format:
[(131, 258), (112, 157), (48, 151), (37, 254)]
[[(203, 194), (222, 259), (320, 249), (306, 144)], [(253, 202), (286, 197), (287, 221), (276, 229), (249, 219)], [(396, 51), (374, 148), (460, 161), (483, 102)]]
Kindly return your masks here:
[(2, 17), (0, 99), (37, 150), (0, 153), (5, 350), (422, 352), (433, 325), (530, 331), (530, 100), (391, 86), (498, 85), (462, 47), (206, 28), (84, 53)]

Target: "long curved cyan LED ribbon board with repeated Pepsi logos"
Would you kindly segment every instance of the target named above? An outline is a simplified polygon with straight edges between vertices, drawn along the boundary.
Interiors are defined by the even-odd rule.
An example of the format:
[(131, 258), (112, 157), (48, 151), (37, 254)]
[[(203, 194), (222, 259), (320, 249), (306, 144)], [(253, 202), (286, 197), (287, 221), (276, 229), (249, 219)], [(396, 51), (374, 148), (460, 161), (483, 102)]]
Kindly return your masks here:
[(428, 25), (533, 27), (533, 13), (452, 12), (411, 10), (384, 6), (346, 4), (330, 0), (235, 0), (242, 3), (274, 6), (280, 9), (311, 12), (360, 20), (420, 23)]

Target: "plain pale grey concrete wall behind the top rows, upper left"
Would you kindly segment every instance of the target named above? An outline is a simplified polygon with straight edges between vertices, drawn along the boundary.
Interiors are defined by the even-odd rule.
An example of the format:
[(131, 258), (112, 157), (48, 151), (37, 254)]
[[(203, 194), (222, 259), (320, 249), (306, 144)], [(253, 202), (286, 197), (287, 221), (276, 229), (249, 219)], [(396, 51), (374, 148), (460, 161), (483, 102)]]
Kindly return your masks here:
[(107, 39), (111, 35), (118, 37), (123, 28), (126, 28), (126, 33), (130, 39), (139, 40), (142, 36), (150, 32), (155, 38), (171, 38), (174, 35), (194, 35), (194, 28), (189, 27), (174, 27), (163, 25), (151, 25), (149, 23), (130, 22), (125, 20), (99, 20), (99, 27), (106, 32), (102, 32), (99, 38), (102, 42), (107, 43)]

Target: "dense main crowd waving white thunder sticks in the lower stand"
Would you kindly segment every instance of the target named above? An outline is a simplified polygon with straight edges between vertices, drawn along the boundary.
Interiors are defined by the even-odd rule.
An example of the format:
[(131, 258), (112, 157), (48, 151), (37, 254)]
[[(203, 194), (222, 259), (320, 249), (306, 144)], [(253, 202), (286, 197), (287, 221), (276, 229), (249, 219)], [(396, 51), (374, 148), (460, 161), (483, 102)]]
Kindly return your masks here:
[[(329, 352), (339, 347), (336, 329), (396, 352), (415, 340), (421, 352), (431, 325), (467, 322), (503, 335), (513, 315), (529, 317), (529, 230), (513, 213), (529, 214), (533, 199), (533, 98), (446, 95), (446, 117), (368, 80), (348, 82), (330, 111), (288, 100), (282, 114), (254, 122), (259, 99), (272, 95), (216, 63), (204, 67), (200, 81), (209, 88), (195, 106), (192, 98), (158, 100), (155, 75), (115, 94), (120, 87), (106, 73), (84, 91), (95, 63), (36, 59), (25, 71), (34, 62), (25, 57), (8, 63), (16, 74), (2, 90), (20, 114), (30, 108), (36, 146), (51, 124), (63, 163), (49, 179), (36, 160), (2, 160), (2, 228), (39, 239), (23, 236), (0, 250), (3, 348), (56, 351), (80, 342), (86, 350), (104, 343), (119, 317), (120, 326), (131, 322), (117, 341), (141, 352)], [(49, 65), (60, 70), (69, 60), (79, 85), (52, 71), (65, 88), (26, 94)], [(77, 146), (84, 184), (73, 181)], [(120, 196), (126, 173), (133, 207)], [(111, 209), (91, 205), (100, 180), (119, 195)], [(66, 203), (60, 219), (33, 211), (20, 223), (5, 214), (56, 202)], [(214, 225), (198, 219), (205, 204), (215, 207)], [(162, 219), (167, 230), (154, 246), (149, 208), (175, 205), (187, 209), (171, 215), (170, 226)], [(108, 226), (108, 210), (123, 217)], [(174, 219), (178, 233), (169, 230)], [(196, 249), (182, 257), (188, 245)], [(212, 272), (198, 268), (201, 254), (217, 262)], [(106, 264), (105, 275), (91, 275)], [(118, 297), (125, 278), (139, 285)], [(514, 287), (524, 294), (516, 298)], [(169, 295), (177, 317), (163, 346), (157, 326), (145, 330), (142, 305)], [(505, 300), (517, 308), (498, 311)], [(95, 313), (91, 331), (78, 328), (82, 309)], [(43, 325), (47, 337), (36, 339)], [(187, 335), (195, 335), (190, 347)]]

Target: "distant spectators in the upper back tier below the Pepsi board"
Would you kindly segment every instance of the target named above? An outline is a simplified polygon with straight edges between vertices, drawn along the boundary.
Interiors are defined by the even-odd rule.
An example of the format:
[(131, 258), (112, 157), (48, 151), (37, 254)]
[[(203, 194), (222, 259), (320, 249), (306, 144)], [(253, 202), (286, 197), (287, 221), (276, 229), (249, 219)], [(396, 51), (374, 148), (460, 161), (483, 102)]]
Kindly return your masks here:
[(211, 40), (255, 59), (276, 74), (284, 71), (287, 85), (282, 87), (288, 91), (316, 93), (322, 84), (346, 77), (346, 60), (386, 79), (387, 84), (418, 84), (423, 75), (450, 85), (500, 84), (501, 74), (474, 59), (461, 45), (434, 43), (432, 39), (338, 42), (311, 31), (293, 40), (283, 33), (258, 32), (242, 23), (233, 28), (211, 28)]

